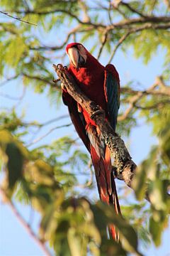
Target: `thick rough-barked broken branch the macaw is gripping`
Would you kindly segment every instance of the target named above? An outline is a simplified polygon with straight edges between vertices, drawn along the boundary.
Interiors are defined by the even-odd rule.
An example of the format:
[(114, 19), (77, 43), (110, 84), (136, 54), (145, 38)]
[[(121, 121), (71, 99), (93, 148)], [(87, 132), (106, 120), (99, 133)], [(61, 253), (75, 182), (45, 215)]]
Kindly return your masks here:
[(96, 122), (97, 126), (101, 130), (101, 134), (115, 159), (115, 177), (125, 181), (125, 183), (131, 187), (132, 178), (135, 174), (137, 166), (134, 161), (132, 161), (123, 139), (121, 139), (120, 136), (114, 132), (111, 124), (106, 121), (104, 110), (102, 110), (100, 106), (96, 105), (94, 101), (91, 101), (88, 97), (86, 97), (86, 95), (84, 95), (74, 81), (74, 78), (72, 78), (72, 76), (67, 72), (67, 68), (64, 68), (61, 64), (53, 64), (53, 68), (55, 68), (55, 72), (60, 78), (62, 85), (67, 89), (69, 95), (71, 95), (74, 100), (79, 102), (81, 107), (83, 107), (86, 112), (89, 113), (91, 119)]

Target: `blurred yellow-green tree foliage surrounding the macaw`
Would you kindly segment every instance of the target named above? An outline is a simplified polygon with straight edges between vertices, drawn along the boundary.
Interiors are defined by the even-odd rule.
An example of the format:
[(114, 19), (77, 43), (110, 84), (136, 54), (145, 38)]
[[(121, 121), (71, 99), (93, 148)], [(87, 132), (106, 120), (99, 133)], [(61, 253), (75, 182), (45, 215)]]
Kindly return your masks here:
[[(60, 85), (53, 85), (52, 63), (67, 63), (62, 54), (69, 41), (79, 39), (99, 60), (106, 55), (106, 63), (113, 60), (118, 49), (124, 53), (132, 50), (145, 63), (159, 50), (165, 53), (164, 72), (154, 85), (137, 90), (137, 82), (130, 81), (122, 88), (120, 135), (128, 137), (142, 118), (158, 138), (133, 181), (136, 198), (142, 203), (130, 203), (124, 198), (124, 218), (101, 202), (79, 196), (85, 194), (84, 190), (91, 191), (93, 183), (84, 190), (79, 188), (79, 174), (86, 175), (89, 156), (77, 139), (61, 137), (51, 144), (36, 146), (31, 130), (41, 131), (49, 121), (45, 119), (42, 124), (36, 120), (26, 121), (24, 112), (18, 112), (16, 106), (1, 111), (0, 154), (4, 171), (1, 188), (11, 200), (27, 203), (41, 214), (40, 240), (49, 242), (56, 255), (86, 255), (87, 251), (91, 255), (127, 255), (128, 252), (140, 255), (137, 235), (143, 242), (149, 242), (150, 236), (155, 245), (161, 244), (170, 211), (170, 18), (166, 4), (166, 1), (147, 0), (129, 4), (124, 1), (114, 4), (114, 1), (1, 0), (1, 11), (37, 26), (0, 14), (4, 17), (0, 23), (0, 86), (18, 82), (23, 88), (32, 87), (36, 93), (45, 91), (50, 102), (57, 105), (58, 114), (61, 90)], [(23, 100), (22, 97), (19, 100)], [(62, 118), (50, 122), (56, 123)], [(143, 203), (146, 191), (149, 206)], [(119, 230), (118, 244), (107, 239), (108, 223)]]

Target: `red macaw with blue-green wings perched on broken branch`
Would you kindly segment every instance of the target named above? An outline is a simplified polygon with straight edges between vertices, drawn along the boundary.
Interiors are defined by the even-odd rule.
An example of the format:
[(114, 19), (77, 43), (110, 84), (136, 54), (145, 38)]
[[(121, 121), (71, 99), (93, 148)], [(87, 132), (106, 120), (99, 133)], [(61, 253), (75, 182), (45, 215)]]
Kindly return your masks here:
[[(106, 112), (106, 120), (110, 122), (115, 131), (120, 107), (120, 78), (115, 66), (101, 65), (81, 43), (69, 43), (66, 53), (69, 57), (67, 71), (82, 92)], [(64, 86), (62, 86), (62, 100), (68, 107), (69, 115), (79, 137), (91, 154), (101, 201), (113, 205), (115, 213), (121, 215), (111, 164), (111, 152), (100, 130), (86, 110), (69, 95)], [(109, 231), (113, 240), (118, 241), (118, 233), (114, 225), (109, 226)]]

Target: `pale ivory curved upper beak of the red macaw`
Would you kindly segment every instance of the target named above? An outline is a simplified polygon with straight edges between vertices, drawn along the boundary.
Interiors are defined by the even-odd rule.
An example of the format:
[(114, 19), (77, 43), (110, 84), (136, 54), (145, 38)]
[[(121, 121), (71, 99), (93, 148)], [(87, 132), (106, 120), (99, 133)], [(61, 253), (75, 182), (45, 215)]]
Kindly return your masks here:
[(84, 65), (85, 60), (79, 53), (79, 50), (75, 47), (69, 48), (68, 50), (69, 60), (74, 65), (74, 68), (79, 68)]

